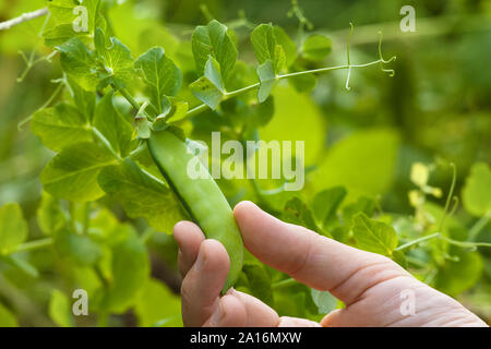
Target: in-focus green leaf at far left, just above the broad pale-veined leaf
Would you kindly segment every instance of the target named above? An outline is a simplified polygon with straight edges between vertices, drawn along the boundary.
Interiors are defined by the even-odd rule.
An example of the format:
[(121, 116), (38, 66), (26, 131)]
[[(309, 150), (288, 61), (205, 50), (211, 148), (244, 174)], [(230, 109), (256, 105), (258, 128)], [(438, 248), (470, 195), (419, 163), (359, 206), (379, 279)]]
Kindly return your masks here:
[(41, 109), (33, 116), (33, 133), (44, 145), (57, 152), (76, 143), (93, 141), (92, 128), (79, 110), (64, 103)]

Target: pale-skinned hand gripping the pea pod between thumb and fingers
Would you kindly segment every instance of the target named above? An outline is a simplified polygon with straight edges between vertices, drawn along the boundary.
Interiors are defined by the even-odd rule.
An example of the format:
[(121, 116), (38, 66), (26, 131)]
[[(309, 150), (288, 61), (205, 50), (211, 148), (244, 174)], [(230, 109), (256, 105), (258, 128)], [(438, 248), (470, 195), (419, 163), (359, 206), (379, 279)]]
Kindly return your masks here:
[[(185, 326), (487, 326), (456, 300), (417, 280), (387, 257), (354, 249), (303, 227), (283, 222), (251, 202), (233, 214), (246, 249), (261, 262), (345, 302), (321, 323), (278, 316), (252, 296), (230, 289), (227, 251), (201, 229), (181, 221), (173, 229), (183, 277), (182, 318)], [(403, 315), (403, 291), (415, 296), (415, 314)]]

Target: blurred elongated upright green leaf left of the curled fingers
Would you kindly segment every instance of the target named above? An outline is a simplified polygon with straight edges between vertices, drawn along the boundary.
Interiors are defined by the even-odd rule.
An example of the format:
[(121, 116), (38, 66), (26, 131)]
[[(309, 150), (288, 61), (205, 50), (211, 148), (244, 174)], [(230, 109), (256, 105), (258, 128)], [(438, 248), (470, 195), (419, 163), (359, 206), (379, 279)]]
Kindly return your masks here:
[(145, 244), (134, 230), (112, 248), (111, 280), (101, 302), (107, 312), (123, 313), (136, 300), (148, 278), (149, 263)]

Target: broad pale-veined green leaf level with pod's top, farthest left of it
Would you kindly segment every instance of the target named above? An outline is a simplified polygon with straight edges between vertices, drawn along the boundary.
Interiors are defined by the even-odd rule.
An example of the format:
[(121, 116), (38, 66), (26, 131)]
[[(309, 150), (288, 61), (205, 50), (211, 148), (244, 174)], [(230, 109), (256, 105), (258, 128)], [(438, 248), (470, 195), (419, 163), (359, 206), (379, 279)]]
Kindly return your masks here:
[(97, 184), (100, 170), (115, 165), (112, 154), (95, 143), (64, 148), (46, 166), (40, 180), (45, 190), (59, 198), (95, 201), (104, 195)]

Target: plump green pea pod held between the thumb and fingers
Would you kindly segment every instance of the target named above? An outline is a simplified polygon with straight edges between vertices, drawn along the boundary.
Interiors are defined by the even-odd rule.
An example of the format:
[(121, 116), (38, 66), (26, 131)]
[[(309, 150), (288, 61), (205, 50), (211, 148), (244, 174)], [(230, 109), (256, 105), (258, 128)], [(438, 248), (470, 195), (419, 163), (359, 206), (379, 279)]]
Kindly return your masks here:
[[(218, 240), (227, 250), (230, 272), (221, 290), (225, 293), (236, 282), (243, 263), (242, 238), (230, 205), (208, 171), (176, 134), (170, 131), (152, 133), (148, 149), (169, 186), (206, 238)], [(190, 178), (189, 164), (202, 167), (200, 172), (206, 176)]]

